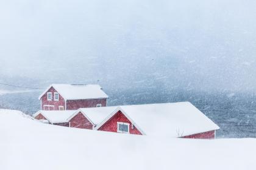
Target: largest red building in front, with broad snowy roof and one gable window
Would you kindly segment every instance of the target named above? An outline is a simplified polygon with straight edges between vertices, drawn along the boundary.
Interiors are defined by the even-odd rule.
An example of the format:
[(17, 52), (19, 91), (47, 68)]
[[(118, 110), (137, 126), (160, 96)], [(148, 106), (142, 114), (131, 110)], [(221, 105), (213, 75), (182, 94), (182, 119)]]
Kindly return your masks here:
[(98, 131), (182, 138), (215, 138), (219, 127), (189, 102), (119, 106)]

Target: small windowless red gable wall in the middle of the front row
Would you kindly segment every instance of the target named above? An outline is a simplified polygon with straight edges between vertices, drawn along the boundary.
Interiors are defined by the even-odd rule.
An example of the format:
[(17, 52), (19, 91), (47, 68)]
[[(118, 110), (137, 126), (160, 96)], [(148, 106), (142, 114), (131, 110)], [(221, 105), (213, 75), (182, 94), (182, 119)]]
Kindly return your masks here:
[(93, 129), (93, 124), (81, 113), (79, 112), (76, 116), (71, 118), (70, 127), (76, 127), (81, 129)]

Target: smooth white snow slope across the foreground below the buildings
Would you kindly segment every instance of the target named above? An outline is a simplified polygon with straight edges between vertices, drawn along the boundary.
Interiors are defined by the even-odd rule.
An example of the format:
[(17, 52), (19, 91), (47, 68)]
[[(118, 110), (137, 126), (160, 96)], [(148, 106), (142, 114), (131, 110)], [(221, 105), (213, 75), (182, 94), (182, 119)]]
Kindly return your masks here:
[(0, 169), (256, 169), (256, 139), (188, 140), (43, 124), (0, 110)]

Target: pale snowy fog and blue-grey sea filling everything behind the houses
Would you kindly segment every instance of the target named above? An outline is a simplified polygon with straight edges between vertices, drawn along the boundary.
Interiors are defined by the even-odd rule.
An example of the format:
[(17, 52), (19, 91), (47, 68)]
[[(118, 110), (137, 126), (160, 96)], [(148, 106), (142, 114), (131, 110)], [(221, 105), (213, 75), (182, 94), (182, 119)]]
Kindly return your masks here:
[(99, 83), (108, 106), (190, 101), (217, 137), (256, 137), (255, 21), (254, 0), (0, 0), (0, 108)]

